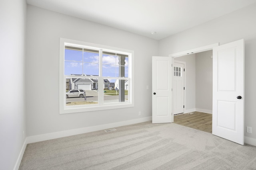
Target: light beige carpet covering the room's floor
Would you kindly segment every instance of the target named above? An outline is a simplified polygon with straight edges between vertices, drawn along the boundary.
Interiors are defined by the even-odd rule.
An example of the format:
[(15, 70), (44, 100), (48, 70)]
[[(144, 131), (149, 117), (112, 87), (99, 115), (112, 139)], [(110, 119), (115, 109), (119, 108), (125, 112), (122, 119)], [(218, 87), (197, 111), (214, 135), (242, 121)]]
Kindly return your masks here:
[(256, 169), (256, 147), (174, 123), (138, 123), (28, 144), (20, 170)]

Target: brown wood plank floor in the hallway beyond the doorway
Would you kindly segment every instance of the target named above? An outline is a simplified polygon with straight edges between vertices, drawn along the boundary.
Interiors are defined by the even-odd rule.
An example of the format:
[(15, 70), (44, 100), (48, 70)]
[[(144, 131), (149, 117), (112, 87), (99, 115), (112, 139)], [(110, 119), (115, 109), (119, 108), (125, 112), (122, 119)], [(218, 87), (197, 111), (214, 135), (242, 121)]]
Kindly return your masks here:
[(174, 116), (174, 123), (212, 133), (212, 114), (198, 111)]

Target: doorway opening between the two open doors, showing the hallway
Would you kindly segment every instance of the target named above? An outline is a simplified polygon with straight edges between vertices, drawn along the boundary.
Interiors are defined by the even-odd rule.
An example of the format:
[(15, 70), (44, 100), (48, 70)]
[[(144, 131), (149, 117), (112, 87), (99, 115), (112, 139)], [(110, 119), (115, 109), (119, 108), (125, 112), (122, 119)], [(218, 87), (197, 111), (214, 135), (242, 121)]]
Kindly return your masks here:
[[(174, 123), (212, 133), (212, 50), (176, 57), (173, 63), (182, 62), (186, 64), (183, 97), (176, 96), (172, 79)], [(175, 100), (180, 98), (184, 99), (183, 113), (175, 110)]]

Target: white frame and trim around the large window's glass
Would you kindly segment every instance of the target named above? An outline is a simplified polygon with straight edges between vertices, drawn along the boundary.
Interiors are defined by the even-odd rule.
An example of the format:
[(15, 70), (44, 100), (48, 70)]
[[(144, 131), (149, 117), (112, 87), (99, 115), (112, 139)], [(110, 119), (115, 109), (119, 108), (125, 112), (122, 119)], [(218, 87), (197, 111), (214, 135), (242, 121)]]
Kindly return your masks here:
[[(99, 48), (101, 51), (113, 51), (120, 53), (129, 54), (128, 59), (128, 80), (129, 80), (129, 102), (116, 102), (116, 103), (103, 103), (103, 86), (98, 86), (98, 97), (99, 104), (91, 104), (91, 105), (76, 105), (76, 106), (66, 106), (66, 76), (64, 75), (64, 54), (65, 54), (65, 44), (68, 43), (72, 45), (82, 45), (92, 48)], [(100, 59), (101, 60), (101, 59)], [(100, 70), (101, 69), (100, 63)], [(106, 110), (106, 109), (119, 109), (126, 107), (134, 107), (134, 51), (127, 49), (120, 49), (117, 47), (110, 47), (106, 45), (99, 45), (94, 43), (88, 43), (83, 41), (76, 41), (72, 39), (60, 38), (60, 74), (59, 74), (59, 102), (60, 102), (60, 114), (63, 113), (77, 113), (77, 112), (86, 112), (86, 111), (97, 111), (97, 110)], [(103, 84), (104, 77), (98, 77), (99, 84)], [(122, 79), (122, 78), (121, 78)], [(127, 78), (124, 78), (125, 80)], [(102, 91), (102, 92), (101, 92)]]

